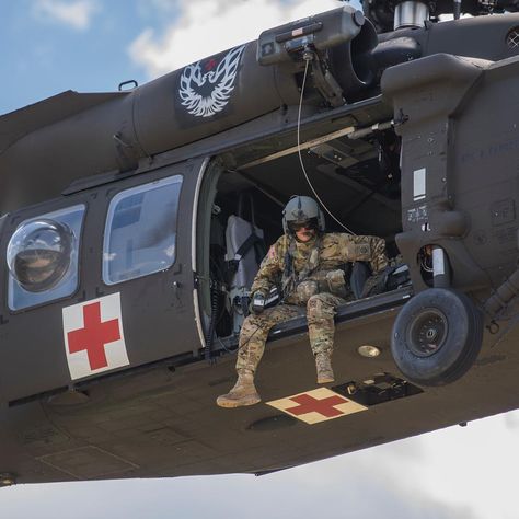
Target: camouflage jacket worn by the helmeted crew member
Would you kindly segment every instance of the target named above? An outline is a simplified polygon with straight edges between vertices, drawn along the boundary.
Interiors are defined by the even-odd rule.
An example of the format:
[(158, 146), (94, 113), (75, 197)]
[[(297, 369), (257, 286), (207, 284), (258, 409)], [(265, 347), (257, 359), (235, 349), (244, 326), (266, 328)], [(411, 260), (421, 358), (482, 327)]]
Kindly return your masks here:
[[(291, 265), (287, 262), (291, 261)], [(293, 270), (297, 281), (319, 278), (320, 274), (336, 270), (353, 262), (369, 262), (373, 274), (388, 266), (385, 242), (381, 238), (326, 233), (302, 243), (284, 234), (268, 250), (254, 278), (251, 291), (267, 293)]]

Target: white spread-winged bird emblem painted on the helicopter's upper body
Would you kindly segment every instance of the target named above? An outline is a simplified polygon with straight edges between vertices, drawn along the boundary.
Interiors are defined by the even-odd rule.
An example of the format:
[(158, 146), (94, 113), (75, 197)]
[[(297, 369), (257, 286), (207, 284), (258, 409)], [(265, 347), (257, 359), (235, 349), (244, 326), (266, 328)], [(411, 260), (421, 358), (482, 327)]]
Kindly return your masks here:
[(178, 95), (187, 112), (196, 117), (210, 117), (221, 112), (234, 89), (238, 65), (244, 45), (229, 50), (215, 70), (203, 73), (200, 61), (182, 72)]

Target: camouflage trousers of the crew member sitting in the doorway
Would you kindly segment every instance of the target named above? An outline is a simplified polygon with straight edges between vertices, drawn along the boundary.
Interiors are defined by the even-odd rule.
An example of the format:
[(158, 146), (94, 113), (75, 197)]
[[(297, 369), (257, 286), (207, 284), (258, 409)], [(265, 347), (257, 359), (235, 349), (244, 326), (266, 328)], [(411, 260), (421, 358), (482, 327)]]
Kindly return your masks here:
[[(313, 355), (332, 353), (335, 332), (335, 309), (346, 302), (332, 293), (316, 293), (307, 302), (307, 321), (310, 346)], [(301, 316), (303, 308), (296, 304), (279, 304), (266, 309), (258, 315), (249, 315), (240, 332), (237, 371), (246, 369), (255, 372), (265, 351), (268, 332), (278, 323)]]

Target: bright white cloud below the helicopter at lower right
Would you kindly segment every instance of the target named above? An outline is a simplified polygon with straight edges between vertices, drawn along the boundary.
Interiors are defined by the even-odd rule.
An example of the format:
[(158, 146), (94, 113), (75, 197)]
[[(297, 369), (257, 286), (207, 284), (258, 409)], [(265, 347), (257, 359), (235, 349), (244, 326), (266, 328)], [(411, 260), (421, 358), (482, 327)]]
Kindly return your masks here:
[[(516, 482), (507, 476), (507, 463), (514, 463), (519, 455), (517, 430), (509, 427), (517, 419), (519, 411), (356, 452), (349, 458), (359, 461), (366, 471), (377, 466), (373, 472), (385, 480), (381, 486), (407, 496), (407, 503), (441, 504), (459, 514), (447, 516), (452, 518), (512, 519), (517, 517)], [(402, 455), (404, 448), (417, 449), (419, 457)]]

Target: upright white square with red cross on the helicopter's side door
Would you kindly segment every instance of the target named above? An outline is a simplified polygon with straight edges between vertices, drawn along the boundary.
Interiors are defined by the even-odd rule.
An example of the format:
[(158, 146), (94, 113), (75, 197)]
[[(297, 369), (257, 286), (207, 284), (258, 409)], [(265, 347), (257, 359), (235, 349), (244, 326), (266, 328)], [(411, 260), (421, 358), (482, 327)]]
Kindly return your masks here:
[(72, 380), (127, 366), (119, 293), (64, 308), (64, 338)]

